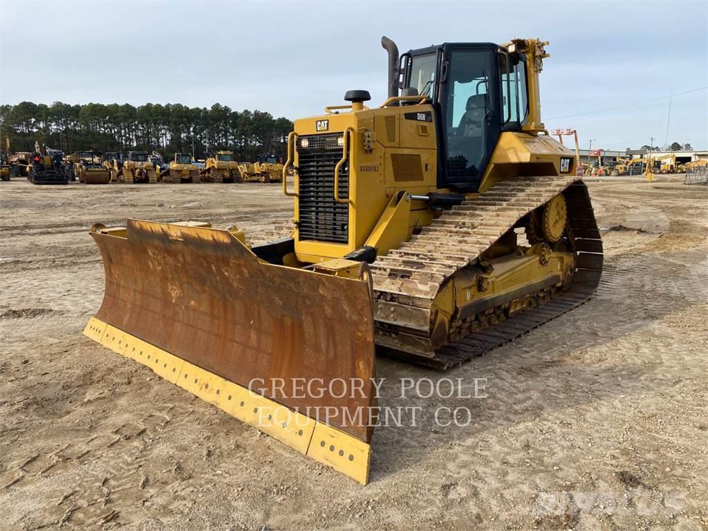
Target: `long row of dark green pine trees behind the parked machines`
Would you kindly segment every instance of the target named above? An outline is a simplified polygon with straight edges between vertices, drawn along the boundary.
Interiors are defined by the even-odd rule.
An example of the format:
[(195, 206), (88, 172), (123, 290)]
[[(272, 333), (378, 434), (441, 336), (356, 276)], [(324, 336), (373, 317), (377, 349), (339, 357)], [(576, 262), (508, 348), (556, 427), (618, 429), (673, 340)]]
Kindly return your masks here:
[(172, 159), (176, 152), (196, 159), (218, 150), (234, 152), (240, 161), (263, 153), (285, 155), (292, 122), (260, 110), (232, 110), (215, 103), (211, 108), (180, 103), (86, 103), (52, 105), (23, 101), (0, 105), (2, 145), (10, 137), (14, 152), (33, 152), (35, 142), (64, 153), (87, 149), (100, 152), (157, 151)]

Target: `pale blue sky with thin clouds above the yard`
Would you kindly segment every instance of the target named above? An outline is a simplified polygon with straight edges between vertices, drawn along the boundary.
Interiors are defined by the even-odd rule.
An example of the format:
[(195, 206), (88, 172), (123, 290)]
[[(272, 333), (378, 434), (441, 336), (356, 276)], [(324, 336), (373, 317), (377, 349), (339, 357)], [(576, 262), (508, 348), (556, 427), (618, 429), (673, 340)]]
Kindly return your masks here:
[(401, 52), (539, 37), (547, 129), (624, 149), (663, 145), (668, 127), (669, 144), (708, 149), (707, 0), (0, 0), (0, 19), (0, 103), (222, 103), (294, 120), (350, 89), (383, 102), (382, 35)]

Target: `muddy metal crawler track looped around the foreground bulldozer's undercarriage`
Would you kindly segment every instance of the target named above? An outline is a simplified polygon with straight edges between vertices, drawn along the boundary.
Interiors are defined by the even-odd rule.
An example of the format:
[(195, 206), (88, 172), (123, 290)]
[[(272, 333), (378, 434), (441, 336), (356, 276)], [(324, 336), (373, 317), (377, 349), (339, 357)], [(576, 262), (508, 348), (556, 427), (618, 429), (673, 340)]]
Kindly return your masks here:
[[(443, 346), (432, 355), (401, 350), (402, 343), (396, 340), (398, 333), (421, 336), (429, 331), (433, 299), (448, 278), (474, 263), (520, 218), (559, 193), (566, 197), (566, 234), (576, 252), (577, 270), (571, 290), (547, 304)], [(498, 183), (443, 212), (401, 249), (377, 258), (372, 265), (377, 344), (384, 352), (440, 369), (482, 355), (585, 302), (600, 281), (602, 252), (600, 232), (583, 181), (549, 176)]]

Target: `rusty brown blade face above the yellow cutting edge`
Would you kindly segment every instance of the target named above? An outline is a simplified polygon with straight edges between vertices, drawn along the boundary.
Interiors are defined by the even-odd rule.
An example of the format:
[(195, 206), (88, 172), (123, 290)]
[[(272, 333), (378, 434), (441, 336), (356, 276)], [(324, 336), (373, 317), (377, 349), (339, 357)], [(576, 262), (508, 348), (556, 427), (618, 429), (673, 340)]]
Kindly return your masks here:
[(370, 442), (367, 282), (261, 263), (217, 229), (131, 219), (127, 238), (91, 236), (105, 267), (98, 319)]

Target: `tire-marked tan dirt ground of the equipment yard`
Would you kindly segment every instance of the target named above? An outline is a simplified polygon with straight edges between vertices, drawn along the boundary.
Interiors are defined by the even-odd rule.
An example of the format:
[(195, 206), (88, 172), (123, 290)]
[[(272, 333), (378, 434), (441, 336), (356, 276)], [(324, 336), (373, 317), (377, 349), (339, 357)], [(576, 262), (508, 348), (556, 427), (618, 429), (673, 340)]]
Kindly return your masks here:
[[(0, 183), (0, 528), (708, 529), (708, 188), (588, 185), (597, 295), (447, 373), (379, 358), (381, 405), (422, 413), (377, 428), (360, 486), (81, 335), (103, 295), (91, 224), (263, 241), (292, 217), (278, 185)], [(402, 399), (400, 377), (486, 385)], [(437, 426), (441, 406), (471, 422)]]

